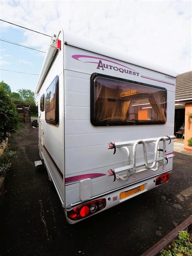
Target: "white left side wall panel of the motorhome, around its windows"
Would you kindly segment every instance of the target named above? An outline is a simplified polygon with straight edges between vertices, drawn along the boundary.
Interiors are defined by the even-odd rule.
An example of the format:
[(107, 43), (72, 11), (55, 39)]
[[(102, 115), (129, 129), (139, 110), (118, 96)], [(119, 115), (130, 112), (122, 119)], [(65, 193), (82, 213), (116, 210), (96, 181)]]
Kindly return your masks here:
[[(60, 37), (62, 40), (62, 33)], [(51, 124), (45, 120), (45, 111), (40, 110), (40, 98), (45, 94), (46, 108), (46, 90), (58, 76), (59, 91), (58, 91), (58, 109), (59, 120), (58, 124)], [(38, 92), (38, 109), (39, 109), (39, 149), (41, 158), (45, 162), (45, 166), (56, 190), (58, 191), (60, 200), (64, 203), (64, 72), (63, 72), (63, 49), (55, 55), (52, 65), (49, 68), (47, 76), (43, 81), (41, 89)]]

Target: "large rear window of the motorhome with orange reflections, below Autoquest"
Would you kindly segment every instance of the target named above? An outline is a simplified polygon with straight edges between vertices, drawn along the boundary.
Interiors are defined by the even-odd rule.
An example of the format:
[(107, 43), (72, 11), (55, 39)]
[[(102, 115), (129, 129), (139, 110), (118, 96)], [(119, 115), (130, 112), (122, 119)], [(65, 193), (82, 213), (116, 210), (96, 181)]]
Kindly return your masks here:
[(91, 122), (94, 126), (166, 123), (165, 88), (93, 74)]

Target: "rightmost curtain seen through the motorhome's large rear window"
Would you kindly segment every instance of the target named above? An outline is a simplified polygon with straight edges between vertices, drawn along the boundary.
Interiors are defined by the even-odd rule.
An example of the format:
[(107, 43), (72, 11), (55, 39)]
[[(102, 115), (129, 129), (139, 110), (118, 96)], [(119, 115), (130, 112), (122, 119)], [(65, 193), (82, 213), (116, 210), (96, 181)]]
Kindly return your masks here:
[(164, 113), (164, 103), (166, 102), (166, 100), (165, 100), (164, 92), (159, 91), (159, 92), (149, 94), (148, 100), (152, 109), (156, 114), (156, 119), (158, 121), (166, 122), (166, 117)]

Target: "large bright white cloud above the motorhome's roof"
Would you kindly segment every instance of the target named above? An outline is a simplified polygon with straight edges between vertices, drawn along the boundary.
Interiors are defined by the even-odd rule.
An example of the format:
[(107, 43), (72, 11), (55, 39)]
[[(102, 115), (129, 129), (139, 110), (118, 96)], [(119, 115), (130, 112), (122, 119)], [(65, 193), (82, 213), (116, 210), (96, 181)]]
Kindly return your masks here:
[[(100, 41), (177, 73), (191, 69), (191, 1), (2, 1), (1, 5), (9, 10), (9, 21), (21, 26), (49, 35), (63, 26), (64, 32)], [(5, 11), (2, 19), (6, 20)], [(9, 26), (2, 23), (4, 30)], [(49, 37), (28, 30), (23, 34), (22, 44), (47, 51)]]

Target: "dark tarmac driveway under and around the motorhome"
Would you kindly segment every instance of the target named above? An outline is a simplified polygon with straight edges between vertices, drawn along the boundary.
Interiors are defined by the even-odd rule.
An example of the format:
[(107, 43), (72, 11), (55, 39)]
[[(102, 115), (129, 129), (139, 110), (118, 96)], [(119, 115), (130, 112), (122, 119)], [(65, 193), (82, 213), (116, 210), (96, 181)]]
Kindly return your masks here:
[(139, 256), (192, 212), (192, 156), (175, 152), (169, 183), (70, 225), (47, 171), (35, 169), (38, 129), (26, 124), (15, 146), (0, 211), (1, 256)]

